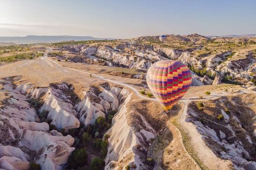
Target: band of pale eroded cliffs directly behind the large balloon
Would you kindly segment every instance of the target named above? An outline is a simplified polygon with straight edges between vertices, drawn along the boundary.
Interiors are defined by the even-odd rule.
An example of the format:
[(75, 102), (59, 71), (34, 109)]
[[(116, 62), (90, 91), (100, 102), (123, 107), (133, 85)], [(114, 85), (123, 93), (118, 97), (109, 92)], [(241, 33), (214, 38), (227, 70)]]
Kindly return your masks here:
[[(194, 36), (194, 35), (193, 35)], [(193, 37), (191, 36), (191, 37)], [(197, 39), (197, 38), (196, 38)], [(200, 39), (200, 38), (199, 38)], [(202, 38), (204, 39), (204, 38)], [(199, 40), (198, 40), (199, 41)], [(219, 79), (233, 79), (240, 83), (255, 79), (253, 51), (219, 51), (198, 54), (203, 47), (175, 50), (137, 42), (125, 42), (119, 45), (75, 45), (63, 46), (62, 50), (77, 54), (69, 59), (74, 62), (106, 65), (110, 67), (148, 69), (159, 60), (177, 60), (185, 63), (197, 75), (204, 85), (213, 83), (215, 76)], [(204, 77), (207, 75), (210, 79)]]

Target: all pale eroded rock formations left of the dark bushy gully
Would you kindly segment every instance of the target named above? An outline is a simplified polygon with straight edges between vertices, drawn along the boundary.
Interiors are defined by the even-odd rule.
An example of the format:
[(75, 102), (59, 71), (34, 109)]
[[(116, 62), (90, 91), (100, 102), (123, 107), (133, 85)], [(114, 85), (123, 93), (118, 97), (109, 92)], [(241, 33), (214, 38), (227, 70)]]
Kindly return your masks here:
[(99, 116), (105, 118), (106, 113), (118, 111), (119, 102), (125, 99), (122, 88), (107, 84), (92, 86), (75, 104), (68, 95), (73, 87), (65, 82), (36, 87), (19, 79), (0, 81), (4, 98), (0, 107), (0, 168), (6, 170), (28, 170), (31, 161), (42, 170), (61, 170), (75, 150), (75, 140), (49, 131), (49, 126), (68, 131), (80, 124), (93, 125)]

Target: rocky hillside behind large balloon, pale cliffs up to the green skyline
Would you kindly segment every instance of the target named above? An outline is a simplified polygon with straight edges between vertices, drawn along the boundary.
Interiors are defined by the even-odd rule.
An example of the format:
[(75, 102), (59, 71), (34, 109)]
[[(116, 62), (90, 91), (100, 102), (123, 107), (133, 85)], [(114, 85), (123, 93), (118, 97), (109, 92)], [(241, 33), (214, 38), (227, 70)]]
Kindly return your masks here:
[[(194, 73), (195, 81), (204, 85), (225, 82), (255, 88), (256, 40), (226, 38), (210, 39), (198, 34), (167, 35), (159, 43), (157, 36), (101, 43), (59, 45), (59, 58), (73, 62), (110, 67), (148, 69), (165, 59), (185, 63)], [(194, 82), (195, 82), (194, 81)], [(201, 83), (195, 85), (202, 85)], [(253, 83), (252, 83), (253, 82)]]

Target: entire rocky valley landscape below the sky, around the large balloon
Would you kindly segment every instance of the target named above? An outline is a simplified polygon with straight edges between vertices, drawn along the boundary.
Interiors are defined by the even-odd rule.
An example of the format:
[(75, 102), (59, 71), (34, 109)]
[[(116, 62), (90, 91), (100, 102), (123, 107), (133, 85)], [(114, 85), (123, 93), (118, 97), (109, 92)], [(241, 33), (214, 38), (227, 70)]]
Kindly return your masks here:
[[(72, 41), (29, 45), (30, 58), (1, 54), (0, 169), (256, 169), (255, 38), (158, 41)], [(165, 59), (194, 71), (168, 115), (145, 81)]]

